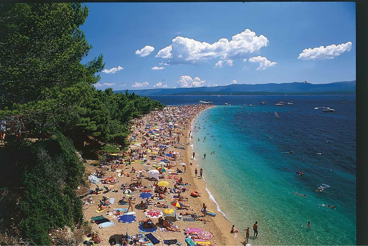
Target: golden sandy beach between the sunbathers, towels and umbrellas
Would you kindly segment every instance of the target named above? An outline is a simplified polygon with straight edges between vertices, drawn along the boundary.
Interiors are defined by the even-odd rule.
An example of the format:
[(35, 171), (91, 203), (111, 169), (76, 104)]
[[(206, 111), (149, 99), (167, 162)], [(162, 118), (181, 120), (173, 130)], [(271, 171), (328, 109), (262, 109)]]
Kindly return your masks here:
[[(155, 111), (149, 115), (143, 116), (141, 119), (136, 119), (135, 123), (132, 125), (132, 134), (128, 136), (130, 138), (131, 144), (129, 150), (134, 149), (139, 155), (142, 153), (141, 159), (137, 159), (137, 156), (135, 156), (132, 159), (137, 159), (136, 162), (132, 162), (131, 167), (134, 167), (135, 170), (146, 170), (148, 169), (156, 169), (152, 165), (160, 163), (164, 158), (166, 158), (166, 155), (162, 155), (160, 157), (159, 155), (155, 155), (155, 160), (151, 160), (152, 158), (152, 152), (156, 151), (159, 148), (154, 147), (154, 144), (157, 145), (170, 145), (169, 148), (164, 150), (164, 154), (167, 154), (169, 152), (177, 151), (179, 154), (176, 154), (175, 160), (170, 160), (166, 165), (170, 164), (173, 165), (173, 170), (183, 169), (184, 166), (180, 165), (181, 163), (185, 163), (186, 172), (184, 173), (178, 173), (178, 175), (170, 175), (171, 177), (179, 177), (183, 179), (183, 183), (188, 183), (188, 186), (185, 186), (188, 190), (181, 192), (181, 196), (186, 197), (187, 199), (184, 199), (181, 201), (182, 204), (188, 205), (189, 208), (187, 212), (195, 212), (197, 215), (202, 216), (203, 213), (201, 212), (202, 204), (205, 203), (208, 210), (212, 210), (216, 212), (215, 217), (205, 216), (205, 219), (209, 219), (209, 222), (203, 222), (203, 221), (184, 221), (184, 218), (191, 218), (188, 217), (181, 217), (179, 220), (176, 220), (173, 222), (173, 226), (177, 226), (178, 229), (180, 229), (180, 232), (164, 232), (160, 231), (159, 226), (157, 226), (157, 232), (152, 232), (152, 235), (155, 236), (158, 240), (160, 240), (160, 243), (157, 245), (164, 245), (164, 240), (171, 240), (171, 239), (177, 239), (179, 242), (181, 242), (182, 245), (187, 245), (185, 242), (185, 234), (184, 230), (187, 228), (200, 228), (202, 231), (210, 232), (212, 233), (212, 239), (208, 240), (212, 245), (243, 245), (244, 237), (241, 235), (241, 233), (232, 234), (230, 233), (231, 230), (231, 223), (227, 221), (226, 218), (223, 217), (223, 215), (217, 211), (216, 204), (210, 200), (209, 194), (206, 192), (206, 184), (203, 179), (195, 178), (194, 175), (194, 169), (197, 167), (198, 169), (198, 176), (199, 176), (199, 169), (201, 166), (197, 166), (197, 161), (195, 161), (192, 158), (192, 148), (190, 147), (191, 144), (193, 144), (193, 141), (190, 140), (189, 134), (191, 130), (191, 122), (195, 118), (196, 115), (198, 115), (199, 112), (201, 112), (204, 109), (209, 108), (209, 105), (191, 105), (191, 106), (175, 106), (175, 107), (166, 107), (163, 109), (163, 111)], [(166, 117), (162, 117), (165, 116)], [(165, 119), (166, 118), (166, 119)], [(158, 120), (159, 119), (159, 120)], [(155, 122), (156, 120), (156, 122)], [(170, 122), (168, 122), (168, 120)], [(176, 120), (176, 122), (174, 122)], [(161, 123), (158, 123), (160, 121)], [(164, 123), (163, 123), (164, 122)], [(150, 125), (147, 125), (150, 124)], [(160, 127), (160, 128), (159, 128)], [(147, 129), (146, 129), (147, 128)], [(148, 133), (148, 131), (152, 129), (157, 129), (158, 131), (156, 134), (158, 136), (153, 136), (152, 133)], [(171, 133), (169, 133), (169, 129), (171, 129)], [(143, 133), (143, 135), (142, 135)], [(170, 136), (164, 138), (163, 135), (170, 134)], [(149, 135), (151, 134), (151, 135)], [(142, 136), (145, 137), (145, 139), (142, 139)], [(152, 136), (152, 137), (149, 137)], [(167, 136), (167, 135), (166, 135)], [(180, 137), (180, 141), (177, 141), (177, 137)], [(138, 141), (137, 141), (138, 140)], [(166, 141), (163, 141), (166, 140)], [(135, 142), (133, 142), (135, 141)], [(146, 142), (149, 141), (149, 142)], [(138, 142), (138, 143), (137, 143)], [(147, 143), (144, 147), (141, 145), (143, 143)], [(169, 142), (169, 143), (167, 143)], [(187, 145), (187, 142), (189, 142), (189, 145)], [(137, 146), (139, 145), (139, 146)], [(144, 145), (144, 144), (143, 144)], [(185, 147), (185, 150), (180, 148), (174, 148), (174, 145)], [(142, 152), (145, 151), (145, 152)], [(145, 154), (148, 151), (147, 154)], [(129, 151), (128, 151), (129, 152)], [(125, 160), (127, 160), (128, 152), (120, 153), (119, 156), (124, 156)], [(132, 155), (130, 155), (132, 157)], [(129, 158), (129, 157), (128, 157)], [(121, 161), (122, 159), (120, 159)], [(122, 160), (121, 166), (116, 167), (116, 171), (113, 172), (111, 170), (111, 164), (117, 165), (119, 162), (114, 161), (107, 161), (105, 162), (105, 165), (102, 166), (96, 166), (93, 167), (91, 165), (86, 166), (86, 173), (88, 175), (93, 174), (95, 171), (101, 171), (103, 170), (106, 172), (104, 178), (100, 178), (101, 180), (104, 180), (105, 178), (109, 176), (113, 176), (113, 178), (116, 178), (116, 183), (113, 184), (113, 188), (107, 192), (107, 189), (103, 188), (102, 193), (99, 194), (91, 194), (89, 196), (92, 197), (94, 203), (89, 205), (83, 206), (84, 216), (86, 221), (90, 221), (92, 217), (96, 217), (99, 215), (103, 215), (105, 218), (109, 219), (110, 221), (114, 222), (115, 225), (108, 226), (106, 228), (99, 228), (99, 225), (95, 223), (89, 223), (92, 226), (92, 231), (96, 231), (99, 233), (100, 238), (102, 239), (102, 242), (99, 243), (99, 245), (109, 245), (109, 239), (114, 238), (116, 239), (117, 244), (119, 243), (119, 239), (121, 236), (124, 236), (125, 233), (128, 233), (128, 235), (133, 236), (137, 233), (139, 233), (139, 227), (138, 227), (138, 221), (142, 219), (146, 219), (145, 213), (143, 210), (140, 210), (137, 207), (137, 204), (141, 202), (141, 198), (139, 197), (139, 194), (141, 192), (139, 189), (137, 191), (134, 191), (133, 197), (136, 198), (135, 204), (133, 204), (133, 211), (136, 213), (136, 220), (135, 222), (131, 224), (124, 224), (121, 222), (118, 222), (117, 216), (109, 217), (108, 212), (113, 212), (114, 208), (128, 208), (128, 205), (118, 205), (118, 201), (123, 198), (123, 187), (121, 187), (122, 184), (125, 184), (125, 186), (129, 186), (132, 181), (132, 176), (137, 175), (137, 173), (129, 173), (131, 171), (131, 167), (125, 166), (125, 161)], [(190, 165), (192, 163), (192, 165)], [(166, 166), (164, 165), (164, 166)], [(105, 168), (105, 169), (103, 169)], [(146, 168), (146, 169), (145, 169)], [(109, 170), (106, 170), (109, 169)], [(124, 176), (120, 176), (120, 171), (122, 170), (124, 172)], [(174, 172), (174, 171), (171, 171)], [(127, 177), (126, 174), (129, 173), (130, 177)], [(119, 176), (120, 177), (119, 177)], [(146, 173), (143, 173), (143, 175), (146, 175)], [(169, 171), (163, 172), (164, 178), (160, 178), (159, 181), (167, 181), (169, 182), (169, 185), (167, 188), (173, 188), (174, 186), (174, 178), (170, 179), (169, 177)], [(147, 176), (147, 175), (146, 175)], [(151, 184), (154, 183), (154, 181), (149, 180), (148, 178), (143, 177), (141, 179), (142, 185), (146, 186), (144, 190), (150, 190), (151, 194), (155, 194), (154, 190), (155, 187), (151, 187)], [(102, 184), (99, 182), (97, 184), (99, 187), (103, 186), (109, 186), (109, 184)], [(91, 190), (95, 190), (96, 184), (90, 183)], [(117, 192), (113, 192), (112, 190), (117, 190)], [(199, 197), (192, 197), (190, 193), (192, 191), (199, 191), (200, 196)], [(171, 209), (176, 209), (173, 205), (170, 204), (170, 202), (174, 201), (173, 196), (177, 195), (174, 193), (168, 193), (163, 194), (166, 198), (166, 201), (161, 201), (161, 203), (166, 204)], [(109, 205), (109, 208), (107, 208), (104, 211), (101, 211), (99, 213), (96, 213), (95, 210), (98, 208), (99, 201), (102, 199), (102, 196), (107, 196), (109, 198), (114, 198), (114, 203)], [(156, 202), (156, 200), (153, 200)], [(135, 205), (135, 206), (134, 206)], [(154, 207), (153, 205), (148, 205), (148, 210), (150, 209), (156, 209), (159, 211), (163, 211), (164, 208), (160, 207)], [(180, 217), (180, 212), (185, 212), (186, 210), (176, 210), (177, 215), (176, 217)], [(122, 212), (121, 212), (122, 214)], [(111, 215), (111, 213), (110, 213)], [(153, 219), (153, 222), (156, 224), (158, 222), (158, 219)], [(238, 230), (243, 230), (242, 228), (236, 228)], [(141, 233), (149, 233), (149, 232), (141, 232)], [(91, 238), (86, 237), (85, 240), (89, 240)]]

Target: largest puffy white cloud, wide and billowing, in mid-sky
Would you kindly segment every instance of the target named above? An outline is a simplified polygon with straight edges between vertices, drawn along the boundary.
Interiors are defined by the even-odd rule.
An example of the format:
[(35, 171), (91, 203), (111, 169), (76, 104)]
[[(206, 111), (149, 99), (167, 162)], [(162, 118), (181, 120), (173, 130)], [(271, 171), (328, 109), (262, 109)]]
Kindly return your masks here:
[(156, 57), (172, 58), (171, 63), (174, 64), (198, 64), (218, 57), (221, 59), (244, 57), (267, 45), (268, 39), (265, 36), (256, 36), (250, 29), (232, 36), (230, 41), (227, 38), (220, 38), (212, 44), (177, 36), (172, 39), (169, 46), (159, 50)]

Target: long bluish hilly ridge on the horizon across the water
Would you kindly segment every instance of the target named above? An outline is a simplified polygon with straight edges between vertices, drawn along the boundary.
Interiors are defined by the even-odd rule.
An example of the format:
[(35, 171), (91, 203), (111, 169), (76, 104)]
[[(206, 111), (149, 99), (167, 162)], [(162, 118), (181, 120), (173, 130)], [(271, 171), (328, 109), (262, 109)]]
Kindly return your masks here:
[[(124, 91), (115, 91), (124, 92)], [(138, 95), (254, 95), (254, 94), (355, 94), (355, 80), (329, 84), (310, 84), (302, 82), (269, 84), (232, 84), (216, 87), (159, 88), (129, 90)]]

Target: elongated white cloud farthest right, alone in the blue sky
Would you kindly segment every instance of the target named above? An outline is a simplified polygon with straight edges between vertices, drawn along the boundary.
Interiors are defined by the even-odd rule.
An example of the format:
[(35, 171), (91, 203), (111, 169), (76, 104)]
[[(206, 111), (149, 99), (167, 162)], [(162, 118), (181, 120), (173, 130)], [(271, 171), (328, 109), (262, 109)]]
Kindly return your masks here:
[(299, 54), (298, 59), (301, 60), (313, 60), (313, 59), (333, 59), (336, 56), (340, 56), (345, 51), (350, 51), (352, 42), (340, 43), (339, 45), (328, 45), (326, 48), (321, 45), (316, 48), (304, 49)]

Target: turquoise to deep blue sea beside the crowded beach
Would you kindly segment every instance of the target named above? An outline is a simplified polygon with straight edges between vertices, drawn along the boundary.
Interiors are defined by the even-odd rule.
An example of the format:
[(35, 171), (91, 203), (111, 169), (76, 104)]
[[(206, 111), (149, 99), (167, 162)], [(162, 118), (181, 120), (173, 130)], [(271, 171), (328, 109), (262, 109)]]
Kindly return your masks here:
[(249, 226), (251, 245), (356, 245), (355, 95), (150, 98), (216, 105), (192, 123), (192, 148), (210, 198), (237, 229)]

